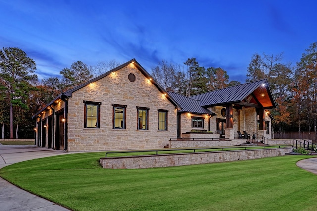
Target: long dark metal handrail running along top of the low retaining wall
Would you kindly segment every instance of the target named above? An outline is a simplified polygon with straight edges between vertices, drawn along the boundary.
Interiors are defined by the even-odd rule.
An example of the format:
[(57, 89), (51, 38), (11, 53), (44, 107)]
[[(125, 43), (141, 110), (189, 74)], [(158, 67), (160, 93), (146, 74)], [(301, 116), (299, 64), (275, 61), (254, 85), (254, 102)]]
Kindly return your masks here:
[[(283, 147), (292, 147), (293, 145), (290, 144), (284, 144), (284, 145), (275, 145), (275, 146), (239, 146), (239, 147), (217, 147), (217, 148), (213, 148), (213, 147), (209, 147), (209, 148), (193, 148), (193, 149), (158, 149), (158, 150), (128, 150), (128, 151), (111, 151), (111, 152), (106, 152), (105, 157), (107, 157), (108, 154), (118, 154), (118, 153), (135, 153), (135, 152), (155, 152), (155, 155), (159, 155), (158, 152), (167, 152), (167, 151), (188, 151), (188, 152), (183, 152), (183, 154), (188, 154), (188, 153), (201, 153), (201, 152), (209, 152), (209, 151), (201, 151), (201, 150), (215, 150), (213, 152), (219, 152), (219, 151), (225, 151), (225, 149), (231, 149), (233, 150), (254, 150), (254, 148), (257, 149), (265, 149), (266, 148), (271, 148), (271, 149), (275, 149), (275, 148), (281, 148), (281, 146)], [(247, 149), (250, 148), (250, 149)], [(252, 148), (252, 149), (251, 149)], [(221, 149), (218, 150), (217, 149)], [(228, 150), (229, 151), (229, 150)], [(179, 153), (169, 153), (169, 155), (171, 154), (179, 154)], [(163, 154), (160, 154), (163, 155)], [(137, 155), (140, 156), (140, 155)]]

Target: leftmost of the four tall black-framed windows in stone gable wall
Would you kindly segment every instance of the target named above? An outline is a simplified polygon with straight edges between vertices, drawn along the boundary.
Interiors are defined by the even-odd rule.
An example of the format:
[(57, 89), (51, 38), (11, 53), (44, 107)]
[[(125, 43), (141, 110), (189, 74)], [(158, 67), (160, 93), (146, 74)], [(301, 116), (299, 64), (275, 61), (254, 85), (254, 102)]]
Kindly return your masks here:
[(85, 128), (100, 128), (100, 102), (85, 101)]

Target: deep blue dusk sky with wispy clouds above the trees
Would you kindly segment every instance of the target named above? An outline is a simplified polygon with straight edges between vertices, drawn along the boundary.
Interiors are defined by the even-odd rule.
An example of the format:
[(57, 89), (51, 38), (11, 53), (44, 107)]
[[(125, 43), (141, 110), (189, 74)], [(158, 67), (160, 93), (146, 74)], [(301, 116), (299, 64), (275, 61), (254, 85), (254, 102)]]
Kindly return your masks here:
[(0, 48), (18, 47), (39, 78), (73, 62), (135, 58), (221, 67), (244, 82), (255, 53), (295, 65), (317, 42), (315, 0), (0, 0)]

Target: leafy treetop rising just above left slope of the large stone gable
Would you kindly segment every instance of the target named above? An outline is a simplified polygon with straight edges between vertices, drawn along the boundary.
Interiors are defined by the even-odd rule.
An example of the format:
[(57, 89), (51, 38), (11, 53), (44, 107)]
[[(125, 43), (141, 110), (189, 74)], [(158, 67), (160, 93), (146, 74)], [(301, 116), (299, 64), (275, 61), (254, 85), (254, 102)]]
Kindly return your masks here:
[(60, 74), (62, 75), (62, 91), (83, 84), (93, 77), (91, 70), (81, 61), (74, 62), (70, 68), (64, 68)]

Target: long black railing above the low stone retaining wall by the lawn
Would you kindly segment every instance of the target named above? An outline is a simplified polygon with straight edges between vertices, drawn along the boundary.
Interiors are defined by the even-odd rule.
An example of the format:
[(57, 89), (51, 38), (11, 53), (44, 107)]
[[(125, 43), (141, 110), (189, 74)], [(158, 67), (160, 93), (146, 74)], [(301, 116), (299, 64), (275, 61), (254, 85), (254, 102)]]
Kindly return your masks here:
[[(128, 151), (111, 151), (106, 152), (105, 157), (108, 154), (127, 154), (127, 153), (140, 153), (139, 155), (131, 155), (131, 156), (142, 156), (142, 155), (163, 155), (163, 154), (179, 154), (179, 153), (172, 153), (173, 151), (184, 151), (180, 152), (183, 154), (188, 153), (200, 153), (200, 152), (220, 152), (220, 151), (234, 151), (234, 150), (254, 150), (254, 149), (276, 149), (281, 147), (292, 147), (293, 145), (285, 144), (285, 145), (274, 145), (274, 146), (239, 146), (239, 147), (209, 147), (209, 148), (191, 148), (191, 149), (158, 149), (158, 150), (128, 150)], [(152, 152), (153, 154), (142, 154)], [(163, 153), (162, 153), (163, 152)], [(171, 152), (171, 153), (168, 153)], [(160, 153), (160, 154), (159, 154)]]

